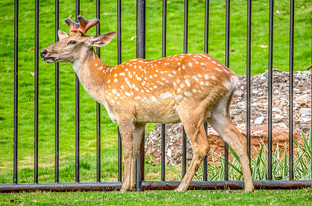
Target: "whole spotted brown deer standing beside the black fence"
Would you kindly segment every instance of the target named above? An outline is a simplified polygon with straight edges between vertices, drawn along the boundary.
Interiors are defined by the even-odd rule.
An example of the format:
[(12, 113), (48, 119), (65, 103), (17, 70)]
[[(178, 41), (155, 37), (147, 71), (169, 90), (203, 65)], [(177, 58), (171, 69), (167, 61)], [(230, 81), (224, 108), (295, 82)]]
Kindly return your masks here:
[(209, 151), (204, 122), (208, 122), (240, 159), (245, 192), (253, 191), (245, 137), (229, 115), (238, 76), (209, 54), (178, 54), (147, 60), (134, 58), (114, 67), (105, 65), (93, 47), (112, 41), (116, 32), (86, 36), (98, 19), (79, 23), (65, 19), (70, 35), (59, 30), (60, 41), (41, 51), (45, 62), (72, 62), (83, 88), (105, 106), (120, 128), (125, 158), (121, 191), (134, 190), (136, 157), (145, 125), (183, 122), (193, 146), (193, 159), (176, 191), (185, 191)]

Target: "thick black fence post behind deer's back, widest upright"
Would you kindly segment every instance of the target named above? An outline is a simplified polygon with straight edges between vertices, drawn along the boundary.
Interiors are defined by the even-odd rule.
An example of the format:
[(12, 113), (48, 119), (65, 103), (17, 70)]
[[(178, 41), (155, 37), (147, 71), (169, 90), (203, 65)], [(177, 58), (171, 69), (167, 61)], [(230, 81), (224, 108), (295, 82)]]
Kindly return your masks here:
[[(136, 58), (145, 58), (145, 0), (136, 1)], [(141, 141), (140, 152), (136, 160), (136, 190), (141, 190), (144, 180), (145, 135)]]

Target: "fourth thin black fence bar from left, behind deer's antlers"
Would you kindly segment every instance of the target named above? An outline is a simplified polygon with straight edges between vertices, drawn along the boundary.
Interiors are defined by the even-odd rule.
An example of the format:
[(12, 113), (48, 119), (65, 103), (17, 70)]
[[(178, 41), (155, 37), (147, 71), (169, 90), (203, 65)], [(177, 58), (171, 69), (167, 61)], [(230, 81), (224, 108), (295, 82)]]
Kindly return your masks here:
[[(76, 22), (80, 13), (80, 1), (76, 0)], [(79, 183), (79, 78), (76, 75), (76, 183)]]

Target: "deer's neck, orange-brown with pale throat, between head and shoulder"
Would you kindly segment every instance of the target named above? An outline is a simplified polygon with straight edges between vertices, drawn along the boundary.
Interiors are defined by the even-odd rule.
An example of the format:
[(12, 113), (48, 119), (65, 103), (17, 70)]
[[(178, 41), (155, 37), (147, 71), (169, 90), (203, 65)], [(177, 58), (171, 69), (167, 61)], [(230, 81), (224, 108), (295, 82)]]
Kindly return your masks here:
[(94, 100), (103, 103), (105, 87), (110, 78), (110, 66), (105, 65), (90, 49), (87, 55), (72, 63), (79, 81)]

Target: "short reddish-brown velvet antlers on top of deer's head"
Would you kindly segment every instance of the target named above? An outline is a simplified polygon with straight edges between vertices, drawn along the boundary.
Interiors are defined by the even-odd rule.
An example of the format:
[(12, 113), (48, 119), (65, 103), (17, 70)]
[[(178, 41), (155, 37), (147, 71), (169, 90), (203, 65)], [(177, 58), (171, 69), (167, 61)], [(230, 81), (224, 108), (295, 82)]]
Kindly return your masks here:
[(80, 15), (77, 16), (77, 19), (79, 23), (75, 23), (68, 18), (65, 19), (65, 23), (70, 27), (70, 32), (81, 32), (82, 34), (85, 34), (91, 27), (100, 23), (99, 19), (85, 20), (85, 18)]

